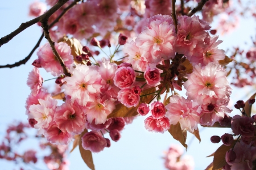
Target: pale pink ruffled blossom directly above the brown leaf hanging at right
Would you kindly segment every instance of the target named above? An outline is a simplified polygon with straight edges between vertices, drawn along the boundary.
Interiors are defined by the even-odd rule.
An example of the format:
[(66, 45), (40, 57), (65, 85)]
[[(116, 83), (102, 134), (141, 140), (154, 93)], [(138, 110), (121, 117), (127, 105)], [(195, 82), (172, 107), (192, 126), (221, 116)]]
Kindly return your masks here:
[(172, 96), (170, 103), (166, 105), (166, 117), (170, 119), (171, 125), (180, 122), (182, 130), (193, 132), (199, 124), (199, 105), (184, 97)]

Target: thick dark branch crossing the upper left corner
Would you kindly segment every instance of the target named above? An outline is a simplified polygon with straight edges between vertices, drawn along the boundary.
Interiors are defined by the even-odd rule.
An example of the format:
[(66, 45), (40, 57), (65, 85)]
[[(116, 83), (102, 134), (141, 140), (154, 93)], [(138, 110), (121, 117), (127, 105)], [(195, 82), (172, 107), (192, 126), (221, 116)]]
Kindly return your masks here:
[(57, 10), (59, 10), (59, 8), (61, 6), (63, 6), (66, 2), (68, 2), (68, 0), (59, 0), (55, 6), (53, 6), (52, 8), (50, 8), (46, 13), (44, 13), (43, 15), (38, 16), (35, 19), (30, 20), (29, 22), (26, 23), (22, 23), (20, 24), (19, 28), (17, 28), (14, 32), (11, 32), (9, 35), (2, 37), (0, 39), (0, 47), (3, 44), (6, 44), (7, 42), (9, 42), (11, 39), (13, 39), (13, 37), (15, 37), (16, 35), (18, 35), (20, 32), (24, 31), (26, 28), (30, 27), (31, 25), (34, 25), (35, 23), (40, 22), (42, 19), (45, 18), (49, 18), (54, 12), (56, 12)]

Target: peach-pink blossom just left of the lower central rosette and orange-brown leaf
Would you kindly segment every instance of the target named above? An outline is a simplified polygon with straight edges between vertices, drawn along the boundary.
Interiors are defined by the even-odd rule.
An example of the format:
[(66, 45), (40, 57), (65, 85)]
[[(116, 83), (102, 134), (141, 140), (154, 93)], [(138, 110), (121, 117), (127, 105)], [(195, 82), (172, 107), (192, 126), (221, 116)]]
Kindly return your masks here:
[(104, 124), (110, 113), (115, 109), (113, 99), (106, 97), (97, 97), (96, 100), (90, 101), (85, 108), (86, 117), (89, 123), (95, 121), (95, 124)]

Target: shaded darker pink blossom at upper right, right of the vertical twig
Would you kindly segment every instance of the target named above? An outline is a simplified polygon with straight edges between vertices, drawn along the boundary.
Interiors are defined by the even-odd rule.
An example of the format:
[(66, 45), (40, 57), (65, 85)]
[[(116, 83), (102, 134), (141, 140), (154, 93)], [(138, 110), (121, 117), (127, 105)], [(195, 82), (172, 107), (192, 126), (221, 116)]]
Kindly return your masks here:
[(184, 54), (188, 58), (193, 54), (203, 52), (203, 44), (208, 33), (202, 27), (199, 16), (178, 16), (177, 39), (175, 52)]

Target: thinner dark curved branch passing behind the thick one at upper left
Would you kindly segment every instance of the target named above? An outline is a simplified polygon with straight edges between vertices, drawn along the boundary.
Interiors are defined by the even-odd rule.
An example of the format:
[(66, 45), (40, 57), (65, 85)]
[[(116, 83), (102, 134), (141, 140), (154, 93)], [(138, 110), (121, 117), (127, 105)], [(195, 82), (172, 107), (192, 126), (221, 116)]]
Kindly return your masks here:
[[(49, 28), (52, 28), (54, 24), (56, 24), (57, 22), (60, 21), (60, 19), (73, 7), (75, 6), (79, 1), (81, 0), (75, 0), (74, 2), (72, 2), (68, 7), (64, 8), (64, 10), (61, 12), (61, 14), (55, 19), (53, 20), (53, 22), (49, 25)], [(36, 45), (34, 46), (34, 48), (31, 50), (30, 54), (28, 54), (28, 56), (18, 62), (15, 62), (14, 64), (11, 65), (3, 65), (0, 66), (0, 69), (2, 68), (13, 68), (13, 67), (18, 67), (20, 65), (24, 65), (32, 56), (32, 54), (35, 52), (35, 50), (39, 47), (40, 42), (43, 40), (44, 37), (44, 33), (42, 33), (42, 35), (40, 36), (40, 39), (38, 40), (38, 42), (36, 43)]]

